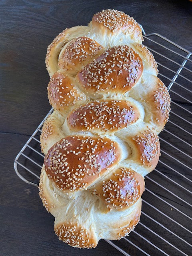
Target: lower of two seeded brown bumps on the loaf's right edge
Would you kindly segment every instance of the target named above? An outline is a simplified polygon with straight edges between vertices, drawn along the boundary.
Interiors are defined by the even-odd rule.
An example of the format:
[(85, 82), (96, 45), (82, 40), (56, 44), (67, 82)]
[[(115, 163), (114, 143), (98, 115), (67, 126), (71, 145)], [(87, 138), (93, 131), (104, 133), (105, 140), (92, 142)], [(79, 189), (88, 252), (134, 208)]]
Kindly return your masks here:
[(134, 150), (136, 150), (136, 161), (147, 167), (149, 171), (154, 170), (160, 155), (160, 143), (156, 133), (145, 130), (132, 138)]

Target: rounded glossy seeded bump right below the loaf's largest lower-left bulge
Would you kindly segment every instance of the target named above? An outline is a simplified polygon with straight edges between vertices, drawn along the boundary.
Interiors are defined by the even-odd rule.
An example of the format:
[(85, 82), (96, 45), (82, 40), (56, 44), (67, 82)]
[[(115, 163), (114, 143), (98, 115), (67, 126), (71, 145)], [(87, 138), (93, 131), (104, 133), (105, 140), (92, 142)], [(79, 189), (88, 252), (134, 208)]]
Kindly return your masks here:
[(109, 210), (125, 210), (134, 204), (144, 191), (144, 178), (130, 168), (121, 167), (94, 188)]

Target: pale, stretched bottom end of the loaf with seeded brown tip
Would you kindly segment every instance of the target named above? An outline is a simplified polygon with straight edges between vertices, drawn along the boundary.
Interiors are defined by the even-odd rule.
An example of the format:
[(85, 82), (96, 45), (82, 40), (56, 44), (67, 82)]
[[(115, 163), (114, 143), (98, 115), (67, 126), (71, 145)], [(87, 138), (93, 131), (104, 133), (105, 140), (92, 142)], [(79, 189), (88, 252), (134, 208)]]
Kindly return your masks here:
[[(56, 234), (60, 240), (73, 247), (94, 248), (102, 238), (119, 240), (128, 235), (140, 220), (141, 198), (126, 210), (106, 211), (103, 200), (98, 202), (98, 196), (91, 194), (88, 190), (82, 190), (81, 196), (74, 192), (72, 194), (60, 192), (49, 180), (44, 167), (40, 176), (39, 189), (44, 207), (55, 216)], [(82, 231), (81, 239), (78, 238), (80, 230)]]

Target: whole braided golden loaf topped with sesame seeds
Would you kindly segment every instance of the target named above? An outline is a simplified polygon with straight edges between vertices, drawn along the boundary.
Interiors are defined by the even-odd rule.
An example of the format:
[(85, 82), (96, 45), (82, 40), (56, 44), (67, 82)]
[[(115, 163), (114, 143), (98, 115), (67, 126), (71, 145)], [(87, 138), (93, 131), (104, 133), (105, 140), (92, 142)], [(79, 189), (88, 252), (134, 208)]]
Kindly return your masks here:
[(48, 46), (54, 112), (40, 136), (40, 198), (67, 244), (118, 240), (141, 214), (144, 176), (160, 156), (170, 96), (136, 21), (117, 10), (95, 14)]

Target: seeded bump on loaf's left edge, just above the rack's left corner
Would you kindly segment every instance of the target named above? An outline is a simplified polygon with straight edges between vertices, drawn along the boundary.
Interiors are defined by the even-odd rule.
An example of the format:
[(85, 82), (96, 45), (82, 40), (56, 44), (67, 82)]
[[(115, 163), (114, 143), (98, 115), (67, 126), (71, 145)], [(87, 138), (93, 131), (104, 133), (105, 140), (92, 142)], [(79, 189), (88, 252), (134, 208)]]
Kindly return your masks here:
[(48, 99), (55, 110), (61, 114), (66, 112), (66, 108), (75, 105), (77, 101), (85, 99), (84, 94), (77, 91), (72, 78), (56, 72), (47, 87)]

